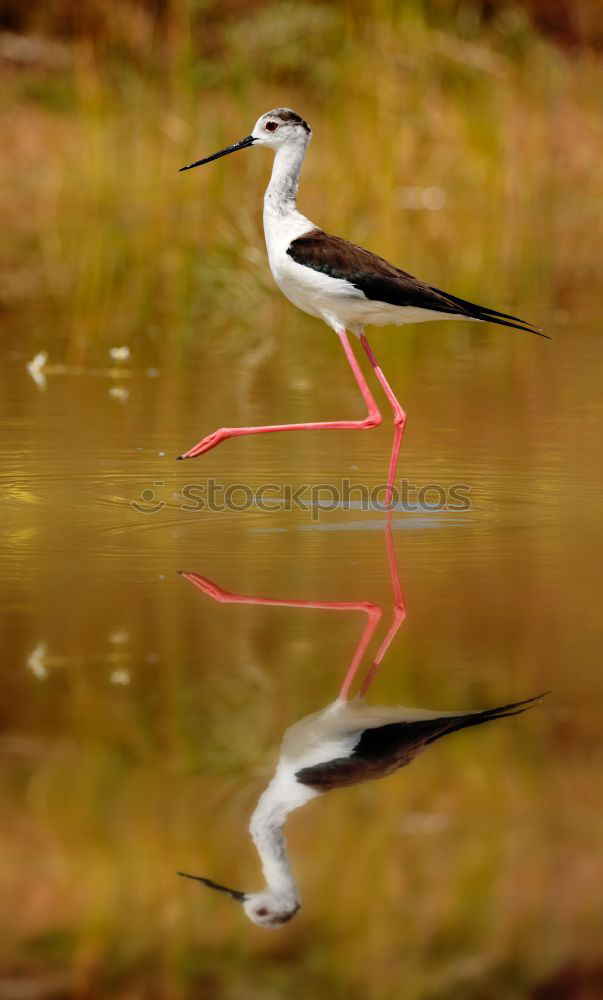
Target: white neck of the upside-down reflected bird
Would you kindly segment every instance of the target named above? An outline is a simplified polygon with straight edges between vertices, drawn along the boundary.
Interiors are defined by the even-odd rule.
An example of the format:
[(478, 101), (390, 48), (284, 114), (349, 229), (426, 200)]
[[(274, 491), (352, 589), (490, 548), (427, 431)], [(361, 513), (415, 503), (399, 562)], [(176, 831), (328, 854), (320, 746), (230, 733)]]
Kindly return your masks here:
[(268, 889), (290, 901), (293, 908), (296, 903), (299, 904), (299, 892), (284, 834), (285, 820), (292, 808), (295, 805), (285, 804), (271, 782), (260, 796), (251, 817), (249, 832), (260, 856)]

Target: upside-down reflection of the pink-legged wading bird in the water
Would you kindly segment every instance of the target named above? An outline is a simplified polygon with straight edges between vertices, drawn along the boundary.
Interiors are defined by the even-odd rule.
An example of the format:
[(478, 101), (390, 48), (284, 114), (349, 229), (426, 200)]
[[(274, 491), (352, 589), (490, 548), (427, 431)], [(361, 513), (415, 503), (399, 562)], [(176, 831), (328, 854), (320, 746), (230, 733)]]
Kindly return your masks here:
[(253, 597), (229, 593), (197, 573), (181, 574), (203, 593), (221, 603), (360, 611), (367, 616), (337, 698), (326, 708), (305, 716), (285, 730), (274, 776), (251, 817), (249, 831), (262, 863), (265, 888), (259, 892), (242, 892), (200, 875), (178, 872), (211, 889), (227, 893), (242, 904), (253, 923), (262, 927), (279, 927), (287, 923), (298, 913), (301, 905), (284, 834), (290, 812), (332, 788), (385, 777), (410, 764), (422, 750), (442, 736), (494, 719), (518, 715), (543, 697), (537, 695), (524, 701), (470, 712), (368, 706), (365, 695), (406, 617), (389, 523), (386, 540), (394, 593), (393, 619), (354, 697), (350, 697), (353, 682), (381, 619), (379, 605), (366, 601), (294, 601)]

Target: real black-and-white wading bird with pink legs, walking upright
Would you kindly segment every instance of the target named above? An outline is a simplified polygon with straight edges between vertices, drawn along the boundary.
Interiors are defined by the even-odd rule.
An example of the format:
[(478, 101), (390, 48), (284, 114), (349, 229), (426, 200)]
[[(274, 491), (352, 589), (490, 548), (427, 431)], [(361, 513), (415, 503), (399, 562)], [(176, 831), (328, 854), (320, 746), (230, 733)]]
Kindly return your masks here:
[(367, 324), (422, 323), (432, 319), (471, 319), (497, 323), (546, 336), (517, 316), (487, 309), (450, 295), (414, 278), (369, 250), (330, 236), (297, 210), (297, 187), (312, 130), (289, 108), (277, 108), (258, 118), (251, 135), (232, 146), (182, 167), (192, 170), (248, 146), (268, 146), (274, 166), (264, 197), (264, 234), (270, 269), (286, 297), (304, 312), (335, 330), (362, 393), (368, 413), (363, 420), (327, 420), (260, 427), (222, 427), (180, 455), (195, 458), (220, 442), (243, 434), (272, 431), (367, 430), (382, 422), (379, 408), (354, 356), (347, 331), (360, 338), (377, 380), (394, 412), (394, 440), (387, 480), (386, 505), (393, 485), (406, 414), (385, 378), (364, 334)]

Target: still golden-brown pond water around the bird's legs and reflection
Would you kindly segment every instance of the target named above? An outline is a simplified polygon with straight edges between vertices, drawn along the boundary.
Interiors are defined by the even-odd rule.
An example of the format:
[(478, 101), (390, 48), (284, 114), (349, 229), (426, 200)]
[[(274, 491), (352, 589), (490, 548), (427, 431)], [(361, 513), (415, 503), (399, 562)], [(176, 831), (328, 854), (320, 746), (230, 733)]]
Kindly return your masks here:
[[(378, 509), (247, 498), (265, 484), (305, 498), (322, 484), (323, 500), (324, 484), (373, 487), (390, 427), (242, 438), (174, 461), (225, 424), (360, 414), (336, 343), (310, 321), (299, 363), (279, 343), (251, 357), (242, 333), (238, 354), (214, 344), (182, 369), (130, 344), (96, 367), (49, 357), (32, 371), (32, 352), (9, 341), (0, 995), (25, 982), (31, 996), (280, 997), (294, 976), (299, 996), (498, 998), (592, 967), (603, 929), (596, 325), (553, 323), (551, 342), (425, 327), (412, 365), (396, 356), (403, 332), (373, 335), (409, 415), (409, 499), (431, 484), (432, 507), (459, 487), (468, 502), (394, 512), (407, 615), (369, 700), (456, 710), (552, 693), (294, 814), (303, 907), (278, 932), (175, 871), (261, 886), (247, 823), (282, 733), (335, 697), (363, 602), (381, 611), (370, 665), (393, 592)], [(213, 510), (199, 502), (210, 479)], [(234, 484), (240, 509), (221, 509)], [(181, 570), (274, 603), (216, 600)], [(332, 602), (344, 607), (321, 607)]]

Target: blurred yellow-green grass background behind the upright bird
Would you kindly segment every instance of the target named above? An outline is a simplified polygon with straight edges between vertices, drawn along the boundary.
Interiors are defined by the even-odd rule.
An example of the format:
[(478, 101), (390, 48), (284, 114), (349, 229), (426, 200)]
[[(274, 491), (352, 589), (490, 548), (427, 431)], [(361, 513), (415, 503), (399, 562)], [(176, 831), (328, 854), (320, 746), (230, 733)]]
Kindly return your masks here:
[(275, 105), (314, 127), (301, 206), (325, 228), (543, 325), (575, 318), (601, 238), (598, 8), (3, 0), (9, 328), (89, 362), (134, 332), (177, 365), (208, 309), (226, 341), (289, 316), (264, 257), (269, 157), (176, 173)]

